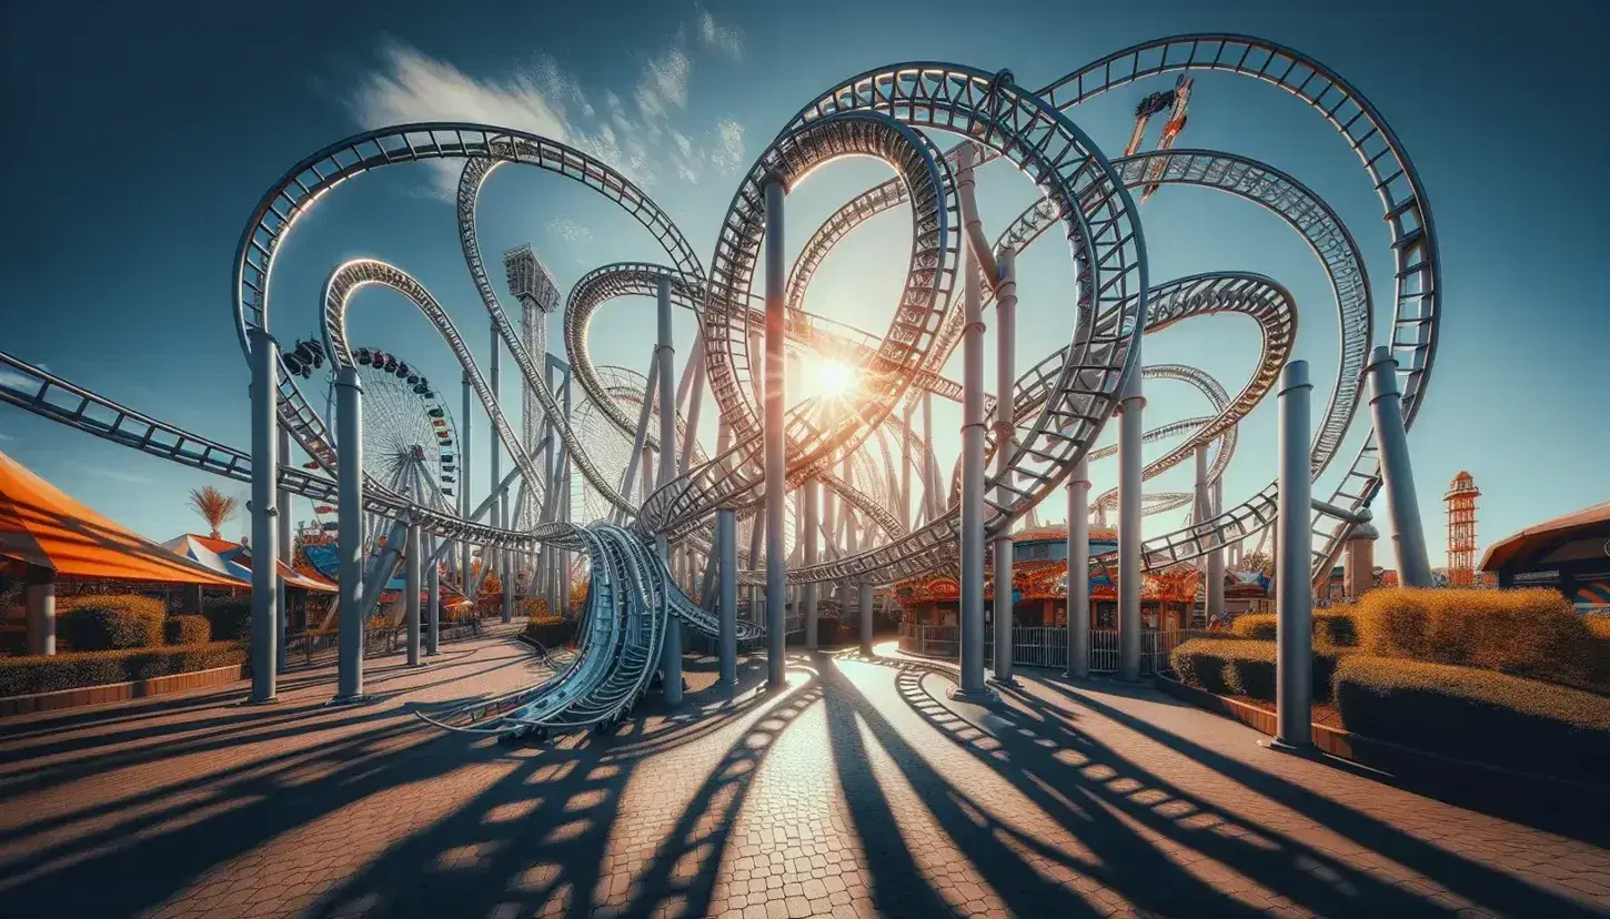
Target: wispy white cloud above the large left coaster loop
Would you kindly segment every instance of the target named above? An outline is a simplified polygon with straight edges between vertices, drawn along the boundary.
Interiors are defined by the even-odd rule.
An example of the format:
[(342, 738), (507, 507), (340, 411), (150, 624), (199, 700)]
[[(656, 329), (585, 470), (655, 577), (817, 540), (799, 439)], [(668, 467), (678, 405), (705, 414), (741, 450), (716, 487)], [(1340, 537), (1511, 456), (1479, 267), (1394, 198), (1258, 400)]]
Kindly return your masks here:
[[(364, 127), (411, 121), (473, 121), (541, 134), (597, 156), (644, 187), (665, 177), (697, 183), (744, 164), (744, 129), (731, 117), (689, 124), (697, 60), (739, 60), (742, 31), (696, 8), (694, 39), (678, 29), (644, 58), (636, 85), (588, 89), (551, 55), (502, 77), (473, 77), (449, 61), (391, 42), (380, 68), (364, 76), (348, 105)], [(597, 101), (594, 101), (597, 100)], [(452, 200), (462, 164), (435, 161), (435, 195)]]

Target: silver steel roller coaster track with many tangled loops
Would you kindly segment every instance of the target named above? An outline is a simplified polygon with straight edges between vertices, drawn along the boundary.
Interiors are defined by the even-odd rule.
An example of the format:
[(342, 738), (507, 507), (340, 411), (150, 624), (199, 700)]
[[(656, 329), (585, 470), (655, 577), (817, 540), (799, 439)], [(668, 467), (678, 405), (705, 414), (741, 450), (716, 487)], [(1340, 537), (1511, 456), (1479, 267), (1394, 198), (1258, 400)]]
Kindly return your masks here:
[[(272, 468), (270, 464), (254, 464), (243, 451), (135, 412), (5, 354), (0, 354), (0, 399), (153, 455), (238, 481), (254, 481), (254, 492), (267, 483), (317, 504), (341, 501), (354, 513), (417, 525), (440, 538), (443, 547), (473, 542), (496, 550), (531, 552), (551, 546), (583, 552), (591, 589), (575, 658), (539, 686), (493, 703), (465, 707), (438, 721), (446, 727), (493, 734), (607, 727), (631, 710), (662, 670), (662, 647), (671, 621), (681, 620), (700, 633), (723, 636), (723, 641), (734, 634), (737, 641), (753, 641), (763, 634), (755, 623), (733, 623), (726, 600), (720, 615), (715, 604), (692, 602), (650, 542), (668, 538), (715, 555), (705, 534), (710, 517), (718, 510), (741, 515), (750, 521), (753, 534), (745, 552), (749, 568), (723, 565), (720, 592), (726, 597), (731, 581), (762, 581), (758, 530), (768, 468), (762, 462), (766, 431), (755, 352), (766, 314), (753, 304), (750, 283), (766, 245), (768, 200), (781, 206), (786, 195), (797, 193), (815, 169), (837, 158), (874, 156), (895, 175), (839, 208), (808, 238), (792, 266), (770, 272), (776, 277), (778, 293), (773, 296), (778, 301), (773, 303), (781, 303), (784, 311), (782, 328), (789, 346), (805, 356), (828, 352), (855, 365), (860, 388), (853, 399), (805, 399), (787, 409), (782, 423), (787, 447), (784, 481), (773, 484), (781, 491), (807, 481), (821, 483), (831, 499), (842, 502), (840, 521), (855, 517), (868, 525), (871, 544), (857, 547), (850, 542), (815, 562), (808, 549), (800, 552), (795, 546), (795, 560), (803, 563), (791, 567), (787, 583), (889, 583), (955, 563), (958, 533), (969, 533), (963, 526), (968, 502), (960, 501), (955, 489), (950, 501), (939, 497), (942, 486), (932, 431), (924, 422), (918, 436), (911, 422), (918, 404), (931, 396), (964, 401), (968, 427), (980, 431), (985, 452), (998, 460), (992, 475), (980, 470), (977, 481), (968, 484), (989, 496), (968, 513), (976, 513), (974, 520), (982, 517), (992, 534), (1005, 533), (1013, 521), (1032, 512), (1075, 467), (1106, 455), (1108, 451), (1092, 447), (1119, 407), (1121, 396), (1138, 393), (1143, 377), (1198, 386), (1212, 402), (1214, 414), (1150, 431), (1133, 428), (1137, 444), (1183, 438), (1140, 472), (1145, 478), (1154, 476), (1199, 447), (1217, 444), (1206, 476), (1208, 483), (1220, 481), (1235, 452), (1238, 422), (1275, 386), (1280, 367), (1291, 354), (1296, 303), (1277, 282), (1245, 272), (1195, 275), (1151, 288), (1141, 220), (1130, 196), (1135, 187), (1146, 195), (1180, 185), (1222, 190), (1277, 214), (1314, 251), (1330, 280), (1341, 332), (1335, 388), (1309, 451), (1314, 478), (1328, 467), (1357, 410), (1365, 375), (1373, 373), (1378, 393), (1381, 386), (1391, 389), (1393, 383), (1389, 372), (1383, 383), (1383, 359), (1370, 361), (1373, 301), (1352, 233), (1323, 200), (1272, 166), (1225, 151), (1180, 148), (1109, 161), (1069, 117), (1079, 103), (1104, 92), (1159, 74), (1198, 71), (1253, 77), (1286, 90), (1319, 111), (1359, 156), (1380, 196), (1391, 237), (1394, 303), (1385, 351), (1397, 364), (1401, 425), (1393, 436), (1401, 444), (1402, 428), (1414, 422), (1425, 398), (1441, 319), (1441, 267), (1420, 179), (1386, 122), (1346, 80), (1290, 48), (1230, 34), (1180, 35), (1133, 45), (1038, 92), (1019, 87), (1009, 71), (947, 63), (879, 68), (832, 85), (799, 109), (739, 182), (708, 272), (670, 216), (638, 185), (597, 158), (564, 143), (469, 122), (386, 127), (333, 143), (293, 166), (258, 201), (240, 238), (232, 280), (242, 349), (248, 362), (259, 367), (258, 378), (272, 380), (277, 389), (274, 422), (301, 444), (312, 459), (312, 468), (299, 468), (288, 457), (277, 457)], [(956, 135), (961, 143), (940, 150), (931, 140), (939, 134)], [(1172, 140), (1169, 137), (1164, 146), (1172, 146)], [(443, 488), (456, 483), (444, 480), (440, 460), (438, 468), (425, 476), (411, 465), (414, 460), (430, 465), (428, 457), (402, 457), (398, 460), (401, 465), (370, 462), (367, 470), (356, 465), (346, 473), (356, 481), (332, 480), (332, 475), (341, 475), (341, 444), (330, 433), (328, 412), (320, 415), (296, 381), (306, 370), (303, 349), (279, 354), (274, 348), (266, 351), (272, 364), (256, 362), (258, 348), (274, 343), (269, 335), (269, 286), (275, 254), (296, 220), (348, 179), (423, 159), (464, 161), (456, 214), (460, 248), (491, 319), (494, 341), (514, 356), (522, 393), (530, 399), (522, 414), (523, 430), (517, 431), (502, 414), (497, 394), (441, 304), (399, 267), (356, 259), (332, 272), (322, 301), (324, 349), (338, 372), (361, 365), (364, 352), (354, 352), (346, 341), (345, 317), (353, 293), (367, 285), (399, 291), (436, 327), (491, 420), (497, 443), (514, 457), (515, 472), (491, 484), (507, 488), (510, 481), (522, 480), (533, 505), (554, 491), (560, 483), (549, 481), (549, 476), (557, 475), (559, 464), (552, 464), (552, 472), (539, 468), (531, 449), (538, 430), (551, 431), (564, 446), (562, 455), (580, 472), (581, 481), (572, 481), (568, 488), (581, 494), (578, 504), (586, 515), (599, 518), (586, 526), (559, 520), (543, 520), (535, 526), (478, 523), (494, 496), (486, 497), (473, 513), (465, 513), (469, 501), (456, 509), (446, 501)], [(979, 164), (993, 159), (1013, 163), (1035, 182), (1040, 200), (990, 245), (979, 219), (972, 175)], [(562, 338), (583, 399), (576, 415), (560, 406), (544, 378), (546, 330), (528, 328), (525, 340), (517, 335), (480, 254), (477, 203), (488, 177), (504, 164), (536, 167), (586, 185), (649, 230), (665, 254), (663, 266), (628, 262), (599, 267), (583, 277), (565, 299)], [(778, 195), (779, 190), (782, 195)], [(905, 285), (887, 332), (877, 336), (805, 312), (805, 293), (826, 256), (869, 217), (900, 204), (911, 206), (913, 241)], [(997, 423), (985, 423), (979, 407), (987, 407), (987, 402), (972, 372), (960, 385), (940, 372), (964, 335), (977, 333), (980, 327), (968, 322), (968, 309), (976, 306), (968, 306), (964, 288), (977, 278), (982, 283), (980, 298), (1016, 301), (1016, 278), (1008, 274), (1016, 256), (1055, 225), (1063, 227), (1075, 277), (1071, 298), (1053, 304), (1066, 311), (1069, 341), (1016, 375), (1008, 396), (1011, 410), (1003, 412)], [(671, 304), (691, 309), (697, 317), (694, 348), (702, 362), (700, 385), (708, 380), (721, 435), (712, 454), (705, 454), (697, 443), (683, 447), (681, 468), (668, 480), (662, 476), (639, 501), (630, 494), (636, 489), (628, 488), (631, 475), (625, 467), (638, 462), (639, 449), (667, 447), (646, 430), (652, 407), (647, 393), (654, 383), (636, 372), (594, 365), (588, 352), (588, 327), (602, 304), (625, 296), (652, 296), (662, 282), (668, 282)], [(522, 299), (530, 296), (528, 291), (515, 293)], [(544, 311), (552, 306), (546, 304)], [(1211, 314), (1243, 314), (1259, 325), (1261, 359), (1238, 393), (1232, 396), (1191, 367), (1141, 364), (1140, 343), (1146, 332)], [(369, 357), (372, 367), (374, 354)], [(665, 369), (660, 373), (670, 378)], [(667, 423), (671, 427), (667, 431), (679, 427), (681, 441), (697, 441), (697, 396), (694, 399), (686, 415), (679, 407), (668, 409), (671, 418)], [(662, 406), (679, 402), (671, 399), (670, 391), (660, 393), (657, 401)], [(465, 404), (470, 406), (469, 401)], [(443, 410), (443, 415), (451, 427), (451, 414)], [(425, 420), (412, 415), (390, 418), (380, 428), (422, 423), (430, 425), (422, 428), (428, 433), (436, 427), (433, 418), (441, 420), (430, 406), (423, 406), (420, 418)], [(264, 443), (264, 435), (258, 431), (259, 420), (254, 417), (253, 452), (259, 449), (256, 444)], [(464, 417), (459, 423), (469, 422)], [(1389, 430), (1380, 436), (1388, 435)], [(353, 436), (362, 439), (356, 433)], [(451, 435), (452, 439), (459, 436), (457, 431)], [(378, 438), (370, 433), (369, 439)], [(871, 443), (882, 454), (882, 468), (873, 452), (863, 449)], [(898, 444), (898, 462), (890, 454), (890, 443)], [(1317, 510), (1309, 521), (1317, 538), (1314, 571), (1328, 570), (1360, 518), (1359, 512), (1383, 486), (1381, 459), (1386, 454), (1380, 443), (1385, 441), (1372, 431), (1331, 499), (1315, 502)], [(353, 452), (357, 454), (356, 444)], [(272, 457), (274, 452), (262, 455)], [(1125, 462), (1138, 460), (1130, 457)], [(399, 473), (394, 465), (409, 472)], [(916, 525), (908, 520), (906, 480), (913, 473), (924, 481), (924, 507)], [(1188, 501), (1180, 494), (1145, 496), (1145, 510), (1177, 509)], [(1129, 550), (1138, 544), (1146, 568), (1203, 557), (1230, 542), (1267, 533), (1277, 517), (1277, 501), (1275, 484), (1212, 513), (1201, 513), (1204, 505), (1198, 497), (1187, 526), (1137, 541)], [(1101, 496), (1096, 504), (1111, 505), (1113, 499)], [(1138, 512), (1140, 502), (1133, 507)], [(824, 530), (832, 542), (831, 528)], [(733, 546), (721, 547), (721, 552), (733, 552)], [(270, 554), (262, 555), (270, 558)], [(776, 560), (765, 562), (771, 565)], [(264, 565), (272, 565), (272, 558)], [(705, 575), (707, 597), (712, 570)], [(343, 657), (343, 668), (346, 665)]]

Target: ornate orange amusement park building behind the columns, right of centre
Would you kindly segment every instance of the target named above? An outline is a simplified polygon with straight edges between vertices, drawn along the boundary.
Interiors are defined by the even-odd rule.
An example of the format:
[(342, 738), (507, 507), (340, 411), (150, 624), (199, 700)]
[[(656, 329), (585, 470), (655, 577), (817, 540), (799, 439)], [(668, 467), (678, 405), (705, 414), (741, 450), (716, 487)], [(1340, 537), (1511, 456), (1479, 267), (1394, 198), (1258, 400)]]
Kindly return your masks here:
[[(1117, 549), (1117, 531), (1090, 528), (1090, 554)], [(993, 558), (985, 562), (984, 602), (995, 610)], [(1103, 563), (1090, 571), (1090, 628), (1117, 628), (1117, 575)], [(1146, 629), (1190, 628), (1196, 612), (1201, 573), (1191, 565), (1175, 565), (1143, 575), (1140, 587), (1141, 624)], [(895, 584), (895, 600), (908, 624), (956, 624), (961, 584), (953, 573), (911, 578)], [(1256, 571), (1225, 576), (1225, 605), (1246, 612), (1269, 597), (1269, 579)], [(1013, 624), (1067, 626), (1067, 530), (1042, 526), (1013, 534)]]

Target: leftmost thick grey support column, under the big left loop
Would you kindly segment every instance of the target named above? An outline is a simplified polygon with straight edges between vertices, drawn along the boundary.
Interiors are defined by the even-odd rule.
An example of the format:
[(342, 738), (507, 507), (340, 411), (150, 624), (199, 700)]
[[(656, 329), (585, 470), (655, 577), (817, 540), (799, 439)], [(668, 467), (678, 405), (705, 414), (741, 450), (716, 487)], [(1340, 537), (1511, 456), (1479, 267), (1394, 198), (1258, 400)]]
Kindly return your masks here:
[[(279, 517), (274, 507), (280, 475), (279, 344), (262, 328), (251, 330), (251, 702), (274, 702), (277, 668), (274, 620), (280, 615)], [(354, 372), (356, 373), (356, 372)], [(345, 452), (345, 451), (343, 451)], [(362, 510), (354, 512), (354, 517)]]

